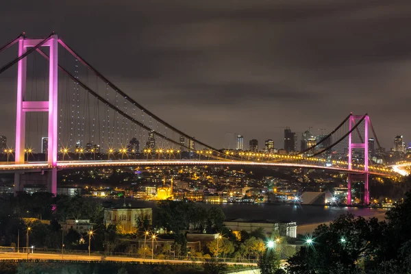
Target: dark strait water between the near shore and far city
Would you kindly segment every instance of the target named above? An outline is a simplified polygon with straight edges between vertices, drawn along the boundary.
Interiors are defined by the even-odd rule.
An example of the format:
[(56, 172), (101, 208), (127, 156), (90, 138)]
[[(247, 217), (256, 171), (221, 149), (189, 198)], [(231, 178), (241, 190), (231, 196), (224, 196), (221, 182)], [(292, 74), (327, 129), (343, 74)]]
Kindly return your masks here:
[[(110, 199), (114, 203), (123, 205), (123, 199)], [(138, 208), (155, 208), (155, 201), (142, 201), (135, 199), (126, 199), (127, 205), (132, 204)], [(218, 206), (229, 219), (248, 219), (248, 220), (272, 220), (272, 221), (292, 221), (297, 225), (310, 223), (323, 223), (336, 219), (341, 214), (351, 212), (356, 216), (371, 217), (381, 215), (386, 212), (381, 208), (347, 208), (347, 207), (330, 207), (330, 206), (293, 206), (286, 204), (273, 203), (197, 203), (203, 208)]]

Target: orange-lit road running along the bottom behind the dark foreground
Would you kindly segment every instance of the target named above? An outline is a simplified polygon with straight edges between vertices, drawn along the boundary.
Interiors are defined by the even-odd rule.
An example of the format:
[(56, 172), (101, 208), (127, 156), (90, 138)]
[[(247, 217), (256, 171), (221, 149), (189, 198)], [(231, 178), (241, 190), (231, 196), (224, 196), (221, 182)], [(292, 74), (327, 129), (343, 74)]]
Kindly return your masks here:
[[(16, 253), (16, 252), (4, 252), (0, 253), (0, 260), (26, 260), (27, 253)], [(101, 256), (87, 256), (87, 255), (73, 255), (73, 254), (55, 254), (55, 253), (30, 253), (29, 259), (32, 260), (84, 260), (84, 261), (99, 261)], [(151, 259), (141, 259), (141, 258), (131, 258), (131, 257), (105, 257), (105, 260), (115, 261), (115, 262), (165, 262), (168, 264), (201, 264), (201, 261), (192, 260), (151, 260)], [(250, 262), (225, 262), (225, 264), (240, 264), (244, 266), (257, 266), (256, 263)]]

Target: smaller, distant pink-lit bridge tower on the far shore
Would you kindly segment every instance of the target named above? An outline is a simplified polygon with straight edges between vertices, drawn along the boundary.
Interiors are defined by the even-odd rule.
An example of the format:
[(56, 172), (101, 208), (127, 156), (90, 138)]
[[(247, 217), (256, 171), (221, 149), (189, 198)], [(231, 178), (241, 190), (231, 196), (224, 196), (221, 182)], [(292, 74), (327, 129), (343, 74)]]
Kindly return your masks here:
[[(364, 140), (363, 142), (353, 142), (351, 129), (356, 125), (356, 121), (361, 121), (364, 118)], [(359, 122), (358, 122), (359, 123)], [(353, 181), (363, 181), (364, 182), (364, 205), (369, 204), (370, 193), (369, 193), (369, 124), (370, 119), (368, 114), (363, 115), (352, 115), (349, 118), (349, 131), (351, 132), (348, 137), (348, 169), (352, 171), (352, 160), (353, 160), (353, 149), (364, 149), (364, 173), (362, 174), (348, 174), (348, 194), (347, 194), (347, 205), (351, 205), (351, 184)], [(358, 129), (358, 127), (357, 127)]]

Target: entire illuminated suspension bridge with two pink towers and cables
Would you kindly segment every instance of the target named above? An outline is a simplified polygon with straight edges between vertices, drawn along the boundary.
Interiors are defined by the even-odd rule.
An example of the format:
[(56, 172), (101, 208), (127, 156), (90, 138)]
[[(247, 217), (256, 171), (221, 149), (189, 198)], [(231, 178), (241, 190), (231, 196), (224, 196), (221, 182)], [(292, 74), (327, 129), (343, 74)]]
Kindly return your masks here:
[[(392, 166), (369, 160), (369, 129), (380, 146), (368, 114), (349, 114), (321, 140), (290, 155), (216, 149), (135, 101), (55, 33), (40, 39), (21, 34), (0, 54), (15, 44), (18, 54), (0, 64), (0, 74), (17, 66), (15, 147), (5, 149), (8, 161), (0, 163), (0, 172), (15, 174), (15, 191), (23, 189), (27, 174), (41, 172), (55, 194), (60, 169), (274, 166), (347, 173), (348, 203), (351, 184), (362, 182), (368, 204), (369, 175), (399, 175)], [(42, 160), (33, 156), (40, 138)]]

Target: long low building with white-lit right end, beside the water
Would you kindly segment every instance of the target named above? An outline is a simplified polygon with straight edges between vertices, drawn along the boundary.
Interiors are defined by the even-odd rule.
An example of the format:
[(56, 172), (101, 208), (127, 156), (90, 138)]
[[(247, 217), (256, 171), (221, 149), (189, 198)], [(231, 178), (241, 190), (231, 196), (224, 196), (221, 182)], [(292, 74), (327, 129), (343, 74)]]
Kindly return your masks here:
[(274, 222), (269, 220), (246, 220), (234, 219), (224, 222), (225, 226), (232, 229), (235, 235), (240, 234), (242, 230), (251, 233), (257, 229), (263, 229), (264, 233), (270, 236), (278, 232), (279, 236), (297, 237), (297, 223), (295, 222)]

